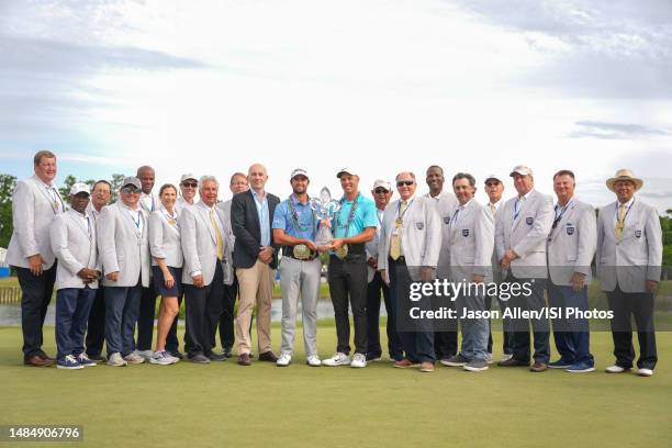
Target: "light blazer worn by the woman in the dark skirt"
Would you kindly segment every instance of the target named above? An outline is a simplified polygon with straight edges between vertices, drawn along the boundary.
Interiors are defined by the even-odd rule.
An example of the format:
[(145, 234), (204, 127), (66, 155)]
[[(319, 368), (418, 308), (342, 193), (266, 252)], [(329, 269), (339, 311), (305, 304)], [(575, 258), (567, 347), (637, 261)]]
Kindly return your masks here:
[[(179, 214), (177, 214), (179, 220)], [(177, 221), (170, 224), (164, 213), (164, 208), (152, 212), (147, 220), (149, 222), (149, 251), (152, 254), (152, 266), (158, 266), (157, 258), (164, 258), (166, 265), (181, 268), (184, 262), (182, 245), (180, 243), (180, 229)]]

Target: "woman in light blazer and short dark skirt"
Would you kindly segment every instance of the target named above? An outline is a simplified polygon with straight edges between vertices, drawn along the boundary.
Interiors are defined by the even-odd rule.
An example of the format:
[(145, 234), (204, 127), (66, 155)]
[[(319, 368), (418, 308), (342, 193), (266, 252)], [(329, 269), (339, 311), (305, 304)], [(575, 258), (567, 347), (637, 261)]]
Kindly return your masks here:
[(156, 351), (149, 362), (167, 366), (179, 361), (166, 351), (166, 336), (180, 311), (178, 298), (182, 294), (182, 247), (175, 208), (177, 188), (165, 184), (159, 190), (161, 206), (149, 215), (149, 250), (154, 287), (161, 295), (159, 306)]

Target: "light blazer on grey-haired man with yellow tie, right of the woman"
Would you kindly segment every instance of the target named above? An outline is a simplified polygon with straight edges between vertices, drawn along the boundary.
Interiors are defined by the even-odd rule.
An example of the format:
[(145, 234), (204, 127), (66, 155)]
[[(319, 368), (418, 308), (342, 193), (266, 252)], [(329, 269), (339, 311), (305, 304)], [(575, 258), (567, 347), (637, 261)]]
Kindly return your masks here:
[[(228, 240), (225, 231), (225, 217), (222, 210), (215, 206), (215, 212), (222, 223), (220, 228), (224, 242), (224, 260), (222, 270), (224, 271), (224, 283), (233, 283), (233, 277), (227, 276), (231, 269), (231, 260), (227, 259), (226, 242)], [(210, 221), (210, 210), (205, 204), (199, 202), (193, 206), (182, 210), (179, 219), (182, 253), (184, 254), (184, 267), (182, 269), (182, 283), (193, 284), (192, 272), (201, 271), (205, 285), (212, 283), (217, 260), (217, 240), (215, 229)]]

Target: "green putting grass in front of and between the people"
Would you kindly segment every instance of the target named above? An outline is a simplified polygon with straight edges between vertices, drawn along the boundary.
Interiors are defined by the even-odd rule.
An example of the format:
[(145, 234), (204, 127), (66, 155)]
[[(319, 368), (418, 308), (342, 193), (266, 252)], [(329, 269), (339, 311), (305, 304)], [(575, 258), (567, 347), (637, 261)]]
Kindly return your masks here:
[[(327, 324), (318, 329), (322, 356), (336, 340)], [(53, 354), (54, 329), (45, 332)], [(278, 325), (272, 336), (277, 349)], [(387, 361), (310, 368), (300, 336), (296, 362), (284, 369), (229, 360), (64, 371), (21, 366), (20, 328), (1, 327), (0, 424), (83, 425), (83, 445), (100, 447), (657, 448), (672, 438), (669, 333), (658, 334), (652, 378), (602, 372), (613, 361), (608, 333), (592, 335), (600, 371), (589, 374), (440, 366), (419, 373)]]

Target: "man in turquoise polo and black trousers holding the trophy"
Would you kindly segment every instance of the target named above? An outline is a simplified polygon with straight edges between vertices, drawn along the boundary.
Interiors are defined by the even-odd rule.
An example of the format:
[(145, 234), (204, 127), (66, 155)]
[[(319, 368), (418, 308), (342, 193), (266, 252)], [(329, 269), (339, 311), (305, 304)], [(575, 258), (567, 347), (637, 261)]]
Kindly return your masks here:
[[(336, 354), (325, 359), (325, 366), (367, 366), (367, 256), (365, 244), (376, 236), (378, 215), (376, 204), (358, 190), (359, 176), (344, 168), (336, 177), (340, 180), (344, 195), (338, 201), (332, 226), (334, 240), (329, 256), (329, 291), (336, 318), (338, 344)], [(328, 190), (327, 190), (328, 193)], [(323, 201), (326, 198), (322, 198)], [(331, 199), (331, 198), (329, 198)], [(327, 224), (328, 223), (328, 224)], [(325, 226), (326, 228), (326, 226)], [(322, 245), (317, 238), (317, 245)], [(350, 321), (348, 300), (355, 321), (355, 356), (350, 361)]]

